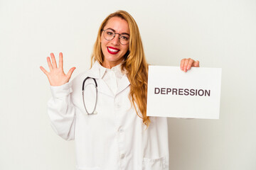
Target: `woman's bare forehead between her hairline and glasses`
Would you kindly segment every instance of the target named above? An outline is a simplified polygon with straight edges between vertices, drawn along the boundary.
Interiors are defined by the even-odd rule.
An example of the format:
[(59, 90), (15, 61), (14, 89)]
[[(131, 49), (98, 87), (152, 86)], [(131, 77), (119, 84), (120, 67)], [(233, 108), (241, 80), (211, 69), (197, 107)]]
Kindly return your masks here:
[(129, 33), (129, 26), (127, 21), (119, 17), (112, 17), (107, 21), (104, 29), (112, 28), (117, 33)]

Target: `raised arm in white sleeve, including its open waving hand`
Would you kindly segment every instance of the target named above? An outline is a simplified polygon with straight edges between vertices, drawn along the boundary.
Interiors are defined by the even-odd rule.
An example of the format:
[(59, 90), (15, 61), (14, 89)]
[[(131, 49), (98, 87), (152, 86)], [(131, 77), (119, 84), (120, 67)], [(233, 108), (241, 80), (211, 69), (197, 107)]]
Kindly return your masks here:
[[(50, 62), (50, 57), (52, 62)], [(75, 108), (71, 101), (71, 83), (68, 83), (75, 70), (71, 68), (68, 74), (63, 71), (63, 54), (59, 55), (59, 67), (57, 67), (53, 53), (47, 57), (50, 72), (40, 67), (50, 82), (52, 98), (48, 102), (48, 114), (53, 130), (65, 140), (73, 140), (75, 134)]]

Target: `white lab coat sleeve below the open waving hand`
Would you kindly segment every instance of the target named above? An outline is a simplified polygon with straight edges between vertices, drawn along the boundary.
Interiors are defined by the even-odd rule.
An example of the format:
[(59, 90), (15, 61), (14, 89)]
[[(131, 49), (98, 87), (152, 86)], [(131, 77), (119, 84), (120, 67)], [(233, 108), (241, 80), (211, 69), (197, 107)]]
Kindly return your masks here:
[(72, 83), (50, 86), (52, 98), (48, 101), (48, 115), (53, 130), (65, 140), (75, 138), (75, 107), (71, 101)]

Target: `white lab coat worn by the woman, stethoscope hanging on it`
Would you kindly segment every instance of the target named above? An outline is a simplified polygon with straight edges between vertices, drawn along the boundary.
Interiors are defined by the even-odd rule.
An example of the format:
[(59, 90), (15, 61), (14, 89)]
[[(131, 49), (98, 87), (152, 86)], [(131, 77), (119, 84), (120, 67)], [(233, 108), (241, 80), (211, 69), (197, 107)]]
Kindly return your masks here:
[[(119, 82), (117, 94), (100, 77), (100, 64), (63, 86), (51, 86), (48, 114), (53, 130), (65, 140), (75, 140), (78, 170), (169, 170), (166, 118), (151, 117), (146, 129), (129, 101), (129, 80)], [(96, 115), (85, 115), (82, 81), (95, 78), (98, 85)], [(88, 79), (86, 84), (93, 82)], [(88, 85), (85, 104), (92, 111), (95, 89)], [(146, 129), (146, 130), (145, 130)]]

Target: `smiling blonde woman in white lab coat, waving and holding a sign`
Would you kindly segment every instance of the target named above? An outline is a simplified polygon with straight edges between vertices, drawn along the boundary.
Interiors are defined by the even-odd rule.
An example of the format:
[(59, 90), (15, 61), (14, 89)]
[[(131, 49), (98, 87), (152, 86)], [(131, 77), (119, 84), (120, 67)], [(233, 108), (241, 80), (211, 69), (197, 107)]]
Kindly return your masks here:
[[(167, 120), (146, 116), (148, 64), (129, 13), (117, 11), (102, 22), (92, 67), (72, 82), (75, 67), (65, 74), (62, 53), (59, 67), (50, 56), (50, 72), (41, 67), (53, 94), (48, 114), (60, 137), (75, 140), (78, 169), (169, 169)], [(199, 67), (199, 62), (181, 60), (183, 71), (191, 67)], [(91, 85), (94, 79), (98, 91)]]

